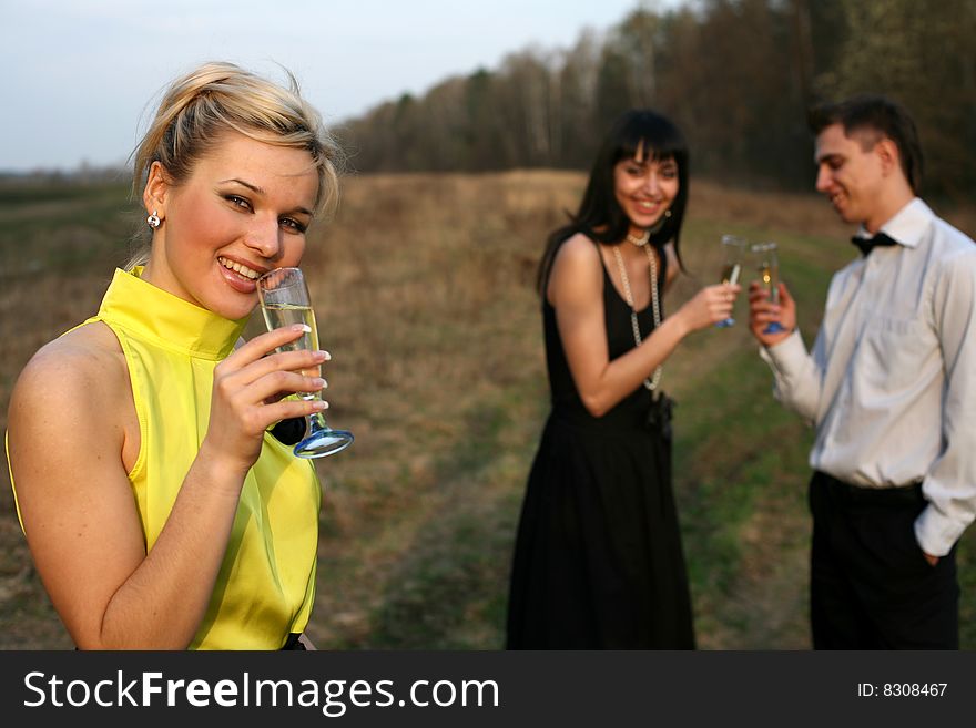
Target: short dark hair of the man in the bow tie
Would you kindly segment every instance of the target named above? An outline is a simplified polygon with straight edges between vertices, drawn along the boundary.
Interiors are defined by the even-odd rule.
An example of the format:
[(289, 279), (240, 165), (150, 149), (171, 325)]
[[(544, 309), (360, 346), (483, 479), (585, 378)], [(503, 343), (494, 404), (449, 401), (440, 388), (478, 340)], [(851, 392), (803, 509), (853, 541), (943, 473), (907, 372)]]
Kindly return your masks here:
[[(916, 195), (922, 189), (922, 145), (918, 131), (907, 110), (887, 96), (862, 94), (837, 103), (813, 106), (806, 116), (810, 130), (820, 134), (832, 124), (841, 124), (844, 134), (874, 131), (898, 147), (902, 172)], [(877, 140), (873, 140), (873, 146)], [(866, 147), (866, 144), (865, 144)]]

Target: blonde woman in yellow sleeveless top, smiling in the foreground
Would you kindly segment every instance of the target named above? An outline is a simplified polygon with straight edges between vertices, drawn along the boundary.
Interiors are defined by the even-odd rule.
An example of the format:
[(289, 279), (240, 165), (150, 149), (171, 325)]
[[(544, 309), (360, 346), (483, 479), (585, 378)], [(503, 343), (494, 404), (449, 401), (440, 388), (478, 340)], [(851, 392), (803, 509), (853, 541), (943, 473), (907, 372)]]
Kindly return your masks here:
[(151, 243), (11, 397), (18, 515), (82, 649), (302, 648), (319, 488), (267, 430), (321, 403), (301, 335), (235, 348), (255, 279), (295, 266), (338, 151), (288, 88), (228, 63), (176, 79), (135, 154)]

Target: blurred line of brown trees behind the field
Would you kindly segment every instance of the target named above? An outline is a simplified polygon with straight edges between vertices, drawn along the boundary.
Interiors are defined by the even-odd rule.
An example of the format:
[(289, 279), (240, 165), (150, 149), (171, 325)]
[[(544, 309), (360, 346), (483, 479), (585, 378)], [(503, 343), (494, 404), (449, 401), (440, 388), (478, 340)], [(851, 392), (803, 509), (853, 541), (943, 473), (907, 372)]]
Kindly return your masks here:
[(976, 0), (699, 0), (641, 4), (569, 49), (529, 48), (347, 122), (360, 172), (587, 168), (621, 111), (684, 131), (695, 174), (809, 189), (806, 109), (885, 93), (918, 122), (925, 192), (976, 191)]

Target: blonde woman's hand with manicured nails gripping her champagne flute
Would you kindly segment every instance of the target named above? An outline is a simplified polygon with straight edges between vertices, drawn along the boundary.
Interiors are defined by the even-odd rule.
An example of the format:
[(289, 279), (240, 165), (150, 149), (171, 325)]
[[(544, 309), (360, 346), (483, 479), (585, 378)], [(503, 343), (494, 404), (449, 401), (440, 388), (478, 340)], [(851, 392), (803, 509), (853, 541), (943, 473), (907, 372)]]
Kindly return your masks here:
[[(264, 433), (281, 420), (307, 417), (328, 404), (321, 399), (283, 398), (318, 392), (325, 380), (316, 375), (325, 351), (278, 351), (306, 335), (302, 325), (254, 337), (214, 369), (210, 425), (201, 452), (213, 453), (242, 473), (257, 461)], [(302, 371), (313, 376), (305, 376)]]

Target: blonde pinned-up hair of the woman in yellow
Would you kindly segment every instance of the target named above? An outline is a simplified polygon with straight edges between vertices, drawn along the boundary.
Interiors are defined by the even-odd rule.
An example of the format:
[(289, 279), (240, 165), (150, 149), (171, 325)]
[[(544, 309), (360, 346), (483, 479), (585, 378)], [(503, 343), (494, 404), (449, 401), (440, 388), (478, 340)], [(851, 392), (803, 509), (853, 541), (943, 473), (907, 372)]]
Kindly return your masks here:
[[(175, 79), (132, 154), (133, 196), (141, 198), (153, 162), (179, 185), (226, 132), (234, 131), (266, 144), (306, 150), (318, 173), (315, 213), (332, 214), (338, 203), (342, 152), (318, 112), (302, 98), (295, 76), (287, 69), (285, 73), (287, 88), (233, 63), (212, 62)], [(146, 240), (126, 268), (143, 265), (149, 249)]]

